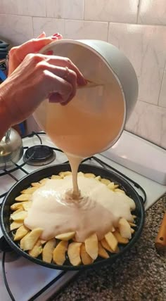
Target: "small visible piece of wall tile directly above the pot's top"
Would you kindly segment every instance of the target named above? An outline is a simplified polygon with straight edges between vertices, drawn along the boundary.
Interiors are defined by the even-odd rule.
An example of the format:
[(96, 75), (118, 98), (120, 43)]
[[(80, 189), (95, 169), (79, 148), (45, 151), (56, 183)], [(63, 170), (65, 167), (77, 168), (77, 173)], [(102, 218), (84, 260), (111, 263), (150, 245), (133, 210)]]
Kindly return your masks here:
[(65, 20), (65, 37), (68, 39), (101, 39), (107, 41), (108, 23)]

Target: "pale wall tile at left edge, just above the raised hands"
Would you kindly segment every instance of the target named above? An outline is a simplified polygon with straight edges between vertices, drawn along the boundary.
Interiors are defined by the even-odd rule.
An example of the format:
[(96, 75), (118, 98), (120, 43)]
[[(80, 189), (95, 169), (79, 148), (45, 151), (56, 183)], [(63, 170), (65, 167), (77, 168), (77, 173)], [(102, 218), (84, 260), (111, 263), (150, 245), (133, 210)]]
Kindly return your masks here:
[(11, 45), (19, 45), (32, 39), (32, 18), (22, 15), (0, 15), (0, 37)]

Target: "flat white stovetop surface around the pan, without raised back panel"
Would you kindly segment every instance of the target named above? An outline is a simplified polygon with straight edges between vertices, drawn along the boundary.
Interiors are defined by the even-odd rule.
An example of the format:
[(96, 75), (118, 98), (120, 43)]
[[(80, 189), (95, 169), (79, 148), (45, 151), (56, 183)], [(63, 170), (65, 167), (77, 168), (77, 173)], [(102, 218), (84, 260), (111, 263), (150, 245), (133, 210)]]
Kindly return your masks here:
[[(24, 155), (28, 148), (41, 144), (51, 147), (56, 155), (55, 160), (46, 166), (68, 162), (68, 158), (65, 154), (58, 150), (49, 137), (43, 132), (38, 134), (32, 133), (30, 136), (23, 139)], [(110, 158), (111, 152), (109, 153), (109, 151), (107, 151), (107, 153), (103, 153), (103, 155), (99, 154), (87, 158), (84, 162), (112, 169), (122, 177), (125, 177), (125, 179), (134, 186), (143, 200), (146, 200), (146, 210), (166, 192), (166, 186), (143, 177), (141, 174), (110, 160)], [(24, 162), (24, 159), (21, 158), (15, 167), (0, 171), (0, 203), (3, 201), (7, 191), (16, 181), (39, 168), (41, 168), (41, 166), (28, 165)], [(2, 233), (0, 229), (0, 237), (1, 236)], [(13, 300), (17, 301), (47, 300), (48, 297), (57, 293), (60, 288), (63, 288), (63, 286), (77, 274), (77, 271), (64, 272), (41, 267), (23, 257), (19, 257), (15, 252), (4, 253), (4, 255), (0, 253), (0, 260), (2, 260), (2, 263), (5, 265), (6, 285), (9, 286), (9, 289), (15, 298)], [(2, 269), (0, 266), (1, 271), (4, 271), (4, 265), (2, 265)], [(1, 300), (11, 300), (3, 279), (0, 280), (0, 290)]]

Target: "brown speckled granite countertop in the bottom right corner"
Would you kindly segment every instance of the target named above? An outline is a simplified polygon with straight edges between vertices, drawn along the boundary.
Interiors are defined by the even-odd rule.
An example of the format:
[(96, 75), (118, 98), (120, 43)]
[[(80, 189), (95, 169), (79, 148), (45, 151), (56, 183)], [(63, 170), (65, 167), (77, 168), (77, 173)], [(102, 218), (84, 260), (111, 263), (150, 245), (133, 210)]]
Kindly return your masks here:
[(115, 264), (84, 271), (51, 301), (164, 301), (166, 252), (155, 250), (155, 237), (166, 208), (166, 196), (146, 212), (141, 238)]

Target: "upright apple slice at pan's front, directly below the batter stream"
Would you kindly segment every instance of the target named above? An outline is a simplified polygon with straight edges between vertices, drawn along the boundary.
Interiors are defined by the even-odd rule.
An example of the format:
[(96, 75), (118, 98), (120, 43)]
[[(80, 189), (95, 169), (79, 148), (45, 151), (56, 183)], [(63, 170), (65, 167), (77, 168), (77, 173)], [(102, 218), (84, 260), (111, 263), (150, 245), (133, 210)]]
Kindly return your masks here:
[(82, 243), (70, 243), (68, 246), (68, 257), (72, 265), (77, 266), (82, 263), (80, 252)]

